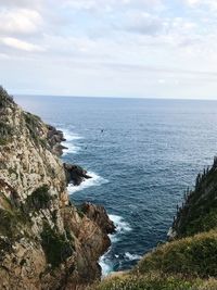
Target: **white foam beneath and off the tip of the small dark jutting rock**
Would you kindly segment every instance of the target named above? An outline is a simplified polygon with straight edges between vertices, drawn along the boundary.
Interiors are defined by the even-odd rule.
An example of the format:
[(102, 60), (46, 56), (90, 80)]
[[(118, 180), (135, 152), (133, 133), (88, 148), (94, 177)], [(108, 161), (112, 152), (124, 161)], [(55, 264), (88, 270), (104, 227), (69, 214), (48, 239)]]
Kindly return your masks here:
[(79, 186), (68, 185), (68, 192), (69, 194), (75, 193), (76, 191), (84, 190), (88, 187), (97, 187), (101, 186), (103, 184), (107, 184), (108, 180), (104, 179), (103, 177), (99, 176), (98, 174), (93, 172), (88, 172), (87, 175), (91, 176), (92, 178), (85, 179)]

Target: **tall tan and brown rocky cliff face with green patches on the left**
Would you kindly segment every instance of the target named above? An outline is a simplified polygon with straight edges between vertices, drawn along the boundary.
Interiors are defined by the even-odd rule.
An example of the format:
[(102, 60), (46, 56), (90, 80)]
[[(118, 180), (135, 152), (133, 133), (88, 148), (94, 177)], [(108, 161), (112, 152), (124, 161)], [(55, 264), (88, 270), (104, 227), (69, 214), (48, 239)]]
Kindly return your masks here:
[(86, 204), (82, 212), (68, 201), (67, 182), (88, 176), (78, 166), (76, 173), (63, 166), (58, 157), (63, 139), (0, 88), (3, 289), (77, 289), (101, 275), (98, 260), (110, 247), (114, 225), (102, 207)]

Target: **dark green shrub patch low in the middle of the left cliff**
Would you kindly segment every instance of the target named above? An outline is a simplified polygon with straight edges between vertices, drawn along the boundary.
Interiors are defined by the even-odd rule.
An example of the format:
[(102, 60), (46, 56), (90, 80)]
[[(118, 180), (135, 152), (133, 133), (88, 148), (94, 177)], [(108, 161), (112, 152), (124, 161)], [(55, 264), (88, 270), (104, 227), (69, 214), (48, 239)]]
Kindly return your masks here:
[(51, 264), (53, 268), (65, 262), (74, 252), (72, 241), (68, 241), (65, 235), (60, 235), (55, 229), (51, 228), (48, 223), (43, 225), (41, 245), (48, 263)]

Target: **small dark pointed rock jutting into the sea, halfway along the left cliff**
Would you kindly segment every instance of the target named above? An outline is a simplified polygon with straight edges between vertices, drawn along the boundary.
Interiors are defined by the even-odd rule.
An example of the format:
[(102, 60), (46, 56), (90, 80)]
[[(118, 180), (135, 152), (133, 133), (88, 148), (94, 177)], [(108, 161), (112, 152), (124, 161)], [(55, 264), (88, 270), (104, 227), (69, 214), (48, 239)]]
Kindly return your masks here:
[(87, 171), (78, 165), (73, 164), (63, 164), (66, 175), (67, 184), (73, 182), (74, 186), (79, 186), (85, 179), (92, 178), (91, 176), (87, 175)]

